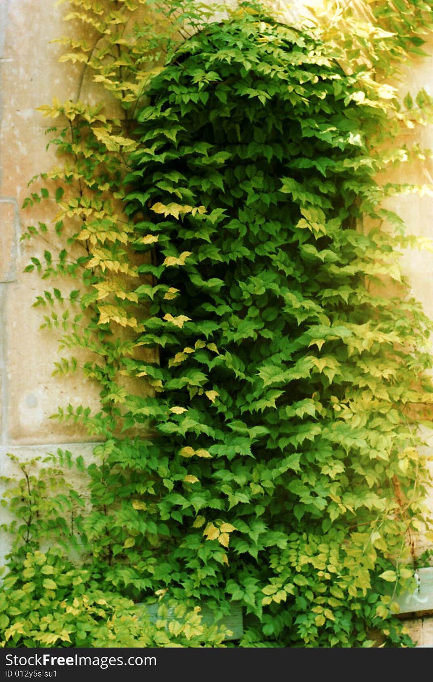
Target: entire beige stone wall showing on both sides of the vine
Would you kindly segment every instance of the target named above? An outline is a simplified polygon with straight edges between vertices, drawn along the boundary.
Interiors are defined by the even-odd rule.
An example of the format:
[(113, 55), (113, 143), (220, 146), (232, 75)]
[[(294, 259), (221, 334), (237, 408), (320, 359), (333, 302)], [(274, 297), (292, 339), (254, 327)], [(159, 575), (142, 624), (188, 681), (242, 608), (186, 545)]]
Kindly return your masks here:
[[(300, 2), (294, 3), (293, 11)], [(76, 426), (50, 419), (59, 405), (85, 404), (98, 407), (98, 390), (79, 374), (69, 378), (52, 376), (57, 358), (55, 335), (40, 329), (44, 311), (31, 308), (40, 293), (40, 278), (23, 273), (34, 253), (35, 243), (20, 242), (20, 235), (33, 222), (49, 221), (46, 207), (22, 209), (29, 193), (27, 183), (34, 175), (48, 170), (53, 151), (45, 151), (46, 128), (52, 123), (36, 110), (50, 103), (53, 96), (74, 100), (81, 83), (81, 66), (59, 63), (62, 48), (50, 42), (65, 32), (64, 5), (54, 0), (2, 0), (0, 3), (1, 133), (0, 133), (0, 468), (10, 472), (8, 453), (23, 458), (68, 448), (75, 454), (91, 454), (86, 432)], [(402, 80), (401, 89), (415, 94), (420, 87), (433, 92), (432, 57), (415, 62)], [(92, 98), (91, 86), (81, 83), (81, 95)], [(413, 134), (408, 134), (408, 143)], [(419, 136), (421, 145), (433, 148), (433, 126)], [(425, 183), (432, 181), (431, 160), (399, 171), (398, 179)], [(413, 233), (433, 237), (433, 196), (410, 195), (393, 201), (394, 209), (406, 220)], [(48, 211), (48, 213), (47, 213)], [(50, 243), (50, 247), (55, 247)], [(44, 244), (37, 247), (41, 252)], [(404, 256), (404, 269), (413, 284), (413, 293), (433, 317), (433, 254), (411, 252)], [(430, 442), (433, 440), (430, 437)], [(432, 494), (433, 514), (433, 494)], [(4, 512), (2, 512), (4, 514)], [(418, 539), (417, 550), (429, 546)], [(0, 563), (8, 551), (1, 539)], [(412, 622), (412, 621), (410, 621)], [(433, 644), (431, 619), (414, 621), (413, 632), (419, 644)], [(409, 621), (408, 621), (409, 623)]]

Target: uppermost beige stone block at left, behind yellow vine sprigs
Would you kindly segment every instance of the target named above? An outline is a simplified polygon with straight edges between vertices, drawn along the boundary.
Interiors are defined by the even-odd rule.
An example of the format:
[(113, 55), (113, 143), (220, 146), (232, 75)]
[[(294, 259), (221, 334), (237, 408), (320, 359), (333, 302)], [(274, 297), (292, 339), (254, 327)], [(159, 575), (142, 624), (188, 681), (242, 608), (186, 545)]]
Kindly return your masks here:
[[(65, 5), (58, 6), (52, 0), (14, 0), (5, 12), (1, 194), (16, 196), (18, 206), (27, 196), (29, 180), (49, 170), (55, 159), (55, 149), (45, 151), (53, 136), (47, 136), (46, 130), (51, 125), (65, 125), (61, 117), (44, 117), (37, 110), (39, 106), (50, 104), (54, 97), (61, 102), (106, 101), (106, 107), (120, 114), (117, 103), (101, 86), (95, 86), (91, 71), (83, 63), (59, 62), (68, 48), (53, 41), (65, 34), (78, 38), (83, 33), (83, 25), (63, 21), (67, 12)], [(92, 42), (91, 28), (85, 30)]]

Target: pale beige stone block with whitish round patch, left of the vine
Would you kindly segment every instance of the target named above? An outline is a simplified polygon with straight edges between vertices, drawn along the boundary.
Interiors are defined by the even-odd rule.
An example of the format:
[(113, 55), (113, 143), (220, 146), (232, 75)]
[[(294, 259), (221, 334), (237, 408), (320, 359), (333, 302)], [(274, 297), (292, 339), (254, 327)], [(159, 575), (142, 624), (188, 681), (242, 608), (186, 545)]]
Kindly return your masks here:
[[(59, 360), (58, 335), (40, 329), (46, 310), (31, 308), (31, 304), (44, 285), (32, 274), (27, 278), (25, 284), (10, 286), (5, 307), (8, 442), (98, 440), (80, 424), (50, 419), (59, 406), (65, 408), (68, 404), (74, 408), (89, 406), (92, 413), (100, 411), (99, 387), (80, 372), (52, 376), (54, 363)], [(68, 351), (63, 355), (67, 357)]]

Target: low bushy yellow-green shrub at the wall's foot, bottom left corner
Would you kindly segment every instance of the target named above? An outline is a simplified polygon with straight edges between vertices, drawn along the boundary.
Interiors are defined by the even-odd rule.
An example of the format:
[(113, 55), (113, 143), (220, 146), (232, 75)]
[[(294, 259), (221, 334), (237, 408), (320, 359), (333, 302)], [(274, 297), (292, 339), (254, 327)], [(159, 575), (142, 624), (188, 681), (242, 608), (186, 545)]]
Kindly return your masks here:
[(153, 628), (130, 599), (98, 589), (60, 552), (27, 552), (0, 590), (3, 647), (150, 647)]

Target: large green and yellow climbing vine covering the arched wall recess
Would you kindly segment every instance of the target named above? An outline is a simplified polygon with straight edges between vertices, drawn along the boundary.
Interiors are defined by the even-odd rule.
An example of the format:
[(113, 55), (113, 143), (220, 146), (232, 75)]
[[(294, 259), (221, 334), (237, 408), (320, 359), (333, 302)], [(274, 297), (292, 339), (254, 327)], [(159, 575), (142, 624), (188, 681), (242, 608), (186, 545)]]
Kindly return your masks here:
[(23, 240), (61, 244), (27, 267), (65, 280), (35, 301), (61, 331), (55, 371), (100, 386), (99, 412), (53, 418), (101, 443), (91, 464), (50, 456), (87, 494), (47, 501), (35, 482), (49, 514), (24, 524), (4, 591), (25, 590), (48, 524), (110, 595), (241, 604), (226, 646), (413, 645), (395, 596), (430, 531), (432, 323), (400, 256), (427, 245), (384, 201), (427, 190), (383, 173), (428, 154), (395, 139), (432, 100), (391, 78), (422, 52), (430, 3), (325, 3), (293, 26), (255, 3), (216, 20), (198, 3), (69, 4), (86, 30), (64, 59), (119, 112), (41, 107), (61, 164), (25, 209), (58, 210)]

